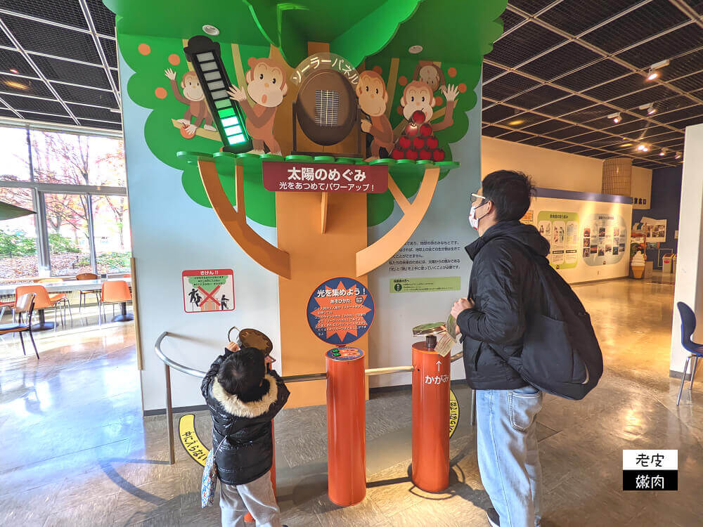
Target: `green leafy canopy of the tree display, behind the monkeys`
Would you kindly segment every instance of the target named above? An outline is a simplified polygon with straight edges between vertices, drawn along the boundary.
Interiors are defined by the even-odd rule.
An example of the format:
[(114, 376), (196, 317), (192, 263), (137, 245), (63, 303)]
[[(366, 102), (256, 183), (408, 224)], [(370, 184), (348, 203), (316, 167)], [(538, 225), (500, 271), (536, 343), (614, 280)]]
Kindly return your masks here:
[[(465, 112), (476, 104), (473, 89), (480, 78), (482, 58), (491, 51), (492, 42), (503, 28), (498, 19), (506, 0), (209, 0), (191, 13), (185, 0), (105, 0), (117, 13), (117, 39), (122, 57), (134, 74), (127, 82), (127, 93), (136, 104), (150, 108), (144, 135), (153, 154), (165, 164), (183, 171), (181, 184), (189, 197), (209, 207), (198, 168), (176, 157), (180, 150), (212, 154), (221, 143), (195, 136), (186, 139), (172, 124), (180, 119), (186, 105), (171, 93), (164, 70), (171, 68), (180, 79), (187, 71), (183, 39), (202, 34), (202, 25), (214, 24), (220, 34), (222, 60), (231, 82), (237, 84), (232, 42), (238, 43), (244, 72), (250, 57), (269, 56), (269, 46), (280, 49), (288, 64), (295, 67), (307, 56), (308, 41), (330, 43), (330, 51), (359, 67), (380, 67), (388, 82), (391, 61), (399, 58), (398, 79), (410, 81), (418, 60), (441, 60), (448, 84), (462, 88), (454, 111), (454, 124), (437, 134), (446, 159), (451, 159), (452, 143), (465, 136)], [(181, 15), (181, 13), (191, 13)], [(159, 20), (153, 24), (153, 20)], [(413, 45), (423, 46), (417, 55), (408, 53)], [(124, 80), (123, 80), (124, 82)], [(389, 86), (390, 87), (390, 86)], [(396, 112), (403, 86), (394, 86), (390, 113), (396, 126), (402, 116)], [(438, 97), (441, 93), (436, 94)], [(435, 112), (443, 105), (435, 108)], [(233, 171), (223, 171), (220, 179), (232, 204)], [(146, 176), (146, 174), (144, 175)], [(442, 175), (446, 176), (446, 173)], [(275, 194), (264, 189), (260, 167), (244, 171), (247, 216), (265, 226), (276, 226)], [(421, 171), (404, 171), (396, 178), (399, 188), (412, 197), (422, 181)], [(389, 191), (368, 195), (368, 225), (378, 225), (389, 217), (394, 200)]]

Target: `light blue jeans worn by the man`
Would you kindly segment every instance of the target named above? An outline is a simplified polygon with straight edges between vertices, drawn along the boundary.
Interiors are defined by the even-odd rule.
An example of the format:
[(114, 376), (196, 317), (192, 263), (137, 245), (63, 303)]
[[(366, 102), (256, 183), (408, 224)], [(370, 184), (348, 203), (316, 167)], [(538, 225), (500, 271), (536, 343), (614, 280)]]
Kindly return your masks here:
[(542, 469), (537, 412), (542, 392), (476, 391), (476, 434), (481, 481), (501, 517), (501, 527), (535, 527), (541, 521)]

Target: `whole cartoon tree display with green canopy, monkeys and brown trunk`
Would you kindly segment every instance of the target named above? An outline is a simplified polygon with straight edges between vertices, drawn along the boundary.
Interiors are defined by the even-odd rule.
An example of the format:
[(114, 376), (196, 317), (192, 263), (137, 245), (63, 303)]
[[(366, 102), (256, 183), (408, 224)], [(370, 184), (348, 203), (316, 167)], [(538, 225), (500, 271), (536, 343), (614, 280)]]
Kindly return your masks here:
[[(451, 180), (448, 174), (458, 173), (451, 171), (458, 167), (452, 161), (451, 145), (467, 133), (466, 112), (477, 102), (474, 88), (479, 82), (482, 58), (502, 32), (497, 19), (506, 1), (211, 0), (199, 4), (197, 11), (184, 0), (105, 0), (105, 4), (118, 15), (120, 52), (134, 70), (127, 81), (129, 98), (152, 110), (144, 128), (148, 147), (159, 160), (182, 171), (183, 190), (193, 201), (212, 207), (238, 245), (280, 277), (283, 375), (321, 371), (323, 350), (330, 344), (310, 331), (306, 307), (311, 292), (330, 276), (356, 277), (366, 285), (368, 273), (411, 237), (439, 181)], [(233, 116), (238, 108), (245, 112), (251, 152), (222, 151), (220, 135), (212, 130), (212, 116), (205, 112), (202, 98), (197, 100), (195, 77), (207, 80), (203, 64), (214, 59), (201, 59), (201, 55), (209, 55), (189, 51), (193, 60), (203, 61), (197, 62), (200, 69), (195, 74), (183, 47), (192, 49), (189, 39), (202, 34), (203, 25), (208, 24), (216, 24), (220, 30), (212, 38), (219, 43), (221, 56), (221, 65), (214, 66), (217, 77), (213, 78), (219, 82), (224, 67), (234, 86), (225, 88), (238, 106), (229, 108), (231, 103), (221, 92), (218, 100)], [(195, 41), (204, 42), (201, 38)], [(207, 45), (211, 47), (196, 47), (213, 49), (212, 42)], [(349, 150), (316, 149), (325, 155), (288, 155), (295, 136), (291, 128), (297, 126), (292, 119), (292, 101), (304, 93), (305, 81), (299, 88), (295, 78), (308, 69), (301, 63), (315, 53), (344, 61), (342, 90), (351, 90), (357, 98), (353, 104), (358, 102), (368, 115), (368, 119), (361, 116), (357, 130), (373, 136), (373, 141), (378, 139), (373, 155), (366, 160), (358, 159), (359, 155), (327, 155)], [(312, 78), (314, 74), (310, 75)], [(362, 79), (365, 83), (378, 82), (378, 91), (373, 93), (378, 98), (374, 101), (383, 100), (382, 107), (364, 110), (372, 93), (368, 92), (367, 100), (366, 89), (357, 89)], [(276, 89), (271, 88), (274, 82)], [(256, 89), (252, 89), (254, 85)], [(354, 86), (350, 89), (349, 85)], [(273, 90), (270, 98), (266, 93), (262, 96), (261, 86)], [(411, 95), (412, 89), (422, 91), (422, 96)], [(276, 103), (269, 108), (266, 103), (273, 95)], [(210, 98), (212, 108), (216, 108), (212, 111), (221, 112), (214, 92)], [(417, 160), (391, 157), (392, 145), (412, 120), (415, 109), (427, 116), (433, 130), (432, 153), (441, 150), (441, 160), (439, 154)], [(299, 110), (295, 111), (299, 117)], [(237, 119), (240, 117), (238, 114)], [(237, 129), (238, 121), (227, 119), (233, 119), (234, 124), (228, 126)], [(224, 125), (217, 119), (215, 124), (224, 134)], [(342, 143), (353, 143), (354, 136), (356, 131), (337, 144), (318, 141), (318, 146), (324, 143), (342, 148)], [(229, 141), (230, 136), (227, 138)], [(264, 145), (269, 152), (277, 152), (280, 145), (283, 155), (261, 154)], [(379, 145), (387, 155), (380, 155)], [(306, 152), (299, 148), (296, 151)], [(271, 192), (263, 186), (268, 162), (337, 163), (342, 170), (351, 165), (387, 165), (388, 190), (378, 194)], [(388, 219), (396, 203), (401, 219), (368, 245), (367, 226)], [(259, 235), (247, 219), (276, 227), (276, 245)], [(359, 334), (362, 336), (355, 346), (368, 349), (368, 334)], [(295, 387), (292, 395), (296, 401), (292, 404), (321, 403), (324, 393), (321, 384), (302, 383)]]

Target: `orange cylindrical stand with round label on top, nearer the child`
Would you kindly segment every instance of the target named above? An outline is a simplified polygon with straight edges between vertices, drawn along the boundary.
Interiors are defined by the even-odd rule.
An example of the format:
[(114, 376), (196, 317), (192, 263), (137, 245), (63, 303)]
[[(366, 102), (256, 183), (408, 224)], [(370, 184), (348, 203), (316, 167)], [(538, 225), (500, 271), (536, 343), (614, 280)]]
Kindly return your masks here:
[(366, 390), (363, 351), (340, 347), (327, 363), (327, 471), (330, 501), (347, 507), (366, 496)]

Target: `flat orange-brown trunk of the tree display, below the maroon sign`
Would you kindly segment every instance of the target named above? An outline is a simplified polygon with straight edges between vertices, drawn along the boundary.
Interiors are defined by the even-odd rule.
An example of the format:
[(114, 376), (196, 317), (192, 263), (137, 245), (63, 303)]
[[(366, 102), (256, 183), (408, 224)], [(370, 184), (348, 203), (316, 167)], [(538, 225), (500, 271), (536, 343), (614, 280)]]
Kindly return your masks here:
[[(318, 193), (276, 193), (278, 248), (290, 254), (290, 279), (278, 278), (281, 375), (324, 372), (325, 351), (335, 347), (319, 339), (307, 321), (307, 304), (317, 287), (337, 277), (368, 285), (367, 275), (356, 277), (356, 252), (367, 243), (366, 194), (330, 193), (324, 233), (323, 206)], [(368, 354), (368, 333), (350, 346)], [(288, 388), (290, 407), (325, 403), (325, 381)]]

